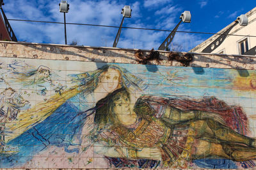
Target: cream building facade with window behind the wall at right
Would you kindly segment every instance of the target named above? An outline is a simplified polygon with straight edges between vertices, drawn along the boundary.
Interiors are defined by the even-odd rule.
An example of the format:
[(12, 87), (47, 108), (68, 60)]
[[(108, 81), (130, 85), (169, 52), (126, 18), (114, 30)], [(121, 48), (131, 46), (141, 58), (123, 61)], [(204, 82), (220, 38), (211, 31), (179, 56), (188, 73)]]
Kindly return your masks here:
[[(237, 55), (256, 55), (256, 8), (245, 14), (248, 25), (243, 26), (232, 22), (224, 29), (205, 40), (190, 52), (225, 53)], [(232, 27), (234, 25), (234, 27)], [(244, 36), (220, 36), (220, 34), (234, 34)], [(208, 50), (206, 48), (209, 48)]]

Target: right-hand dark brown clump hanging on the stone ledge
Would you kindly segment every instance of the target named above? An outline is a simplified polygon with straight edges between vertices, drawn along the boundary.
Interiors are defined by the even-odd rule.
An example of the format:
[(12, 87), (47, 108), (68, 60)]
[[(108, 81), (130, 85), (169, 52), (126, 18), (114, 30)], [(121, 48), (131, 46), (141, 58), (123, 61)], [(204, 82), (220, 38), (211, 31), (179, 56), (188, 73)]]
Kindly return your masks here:
[(168, 56), (168, 60), (177, 60), (179, 61), (182, 66), (189, 66), (189, 63), (193, 60), (193, 54), (191, 53), (186, 53), (183, 55), (182, 53), (177, 53), (177, 52), (170, 52)]

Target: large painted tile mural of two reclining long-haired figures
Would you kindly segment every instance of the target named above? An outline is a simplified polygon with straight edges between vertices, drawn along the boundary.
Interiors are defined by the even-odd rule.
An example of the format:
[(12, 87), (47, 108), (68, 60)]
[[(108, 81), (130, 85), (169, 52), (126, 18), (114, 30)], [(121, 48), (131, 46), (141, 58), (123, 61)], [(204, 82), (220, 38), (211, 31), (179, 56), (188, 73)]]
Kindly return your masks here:
[(253, 168), (256, 71), (0, 58), (0, 167)]

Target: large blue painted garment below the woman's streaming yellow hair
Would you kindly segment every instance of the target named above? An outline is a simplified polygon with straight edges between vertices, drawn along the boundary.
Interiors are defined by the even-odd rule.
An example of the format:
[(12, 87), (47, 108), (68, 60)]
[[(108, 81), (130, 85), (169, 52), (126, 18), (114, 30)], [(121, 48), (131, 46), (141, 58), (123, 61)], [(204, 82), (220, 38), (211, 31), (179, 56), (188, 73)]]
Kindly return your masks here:
[[(49, 145), (64, 147), (65, 152), (79, 152), (79, 143), (72, 143), (72, 139), (79, 134), (86, 119), (86, 113), (79, 114), (79, 110), (72, 103), (62, 104), (50, 117), (42, 123), (29, 129), (6, 145), (18, 146), (19, 152), (10, 157), (1, 155), (0, 167), (18, 167), (33, 158)], [(72, 147), (72, 150), (68, 149)]]

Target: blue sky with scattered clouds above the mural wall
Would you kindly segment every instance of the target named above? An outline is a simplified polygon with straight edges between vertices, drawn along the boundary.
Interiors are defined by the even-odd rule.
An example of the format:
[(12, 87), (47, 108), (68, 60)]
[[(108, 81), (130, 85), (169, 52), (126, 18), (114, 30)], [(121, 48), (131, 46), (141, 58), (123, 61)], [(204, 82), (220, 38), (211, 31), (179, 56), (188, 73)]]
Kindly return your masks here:
[[(24, 20), (45, 20), (63, 22), (59, 12), (61, 0), (5, 0), (3, 9), (8, 18)], [(120, 13), (124, 5), (132, 8), (132, 18), (125, 18), (124, 27), (147, 27), (168, 29), (179, 22), (184, 10), (191, 11), (191, 23), (183, 23), (178, 31), (218, 32), (236, 17), (255, 8), (255, 0), (132, 0), (132, 1), (85, 1), (68, 0), (70, 10), (67, 22), (119, 26)], [(64, 44), (62, 24), (40, 24), (10, 21), (19, 41), (35, 43)], [(67, 25), (67, 41), (77, 41), (78, 45), (112, 46), (116, 28)], [(170, 32), (140, 31), (122, 29), (117, 47), (157, 49)], [(177, 33), (171, 49), (188, 51), (210, 35)]]

